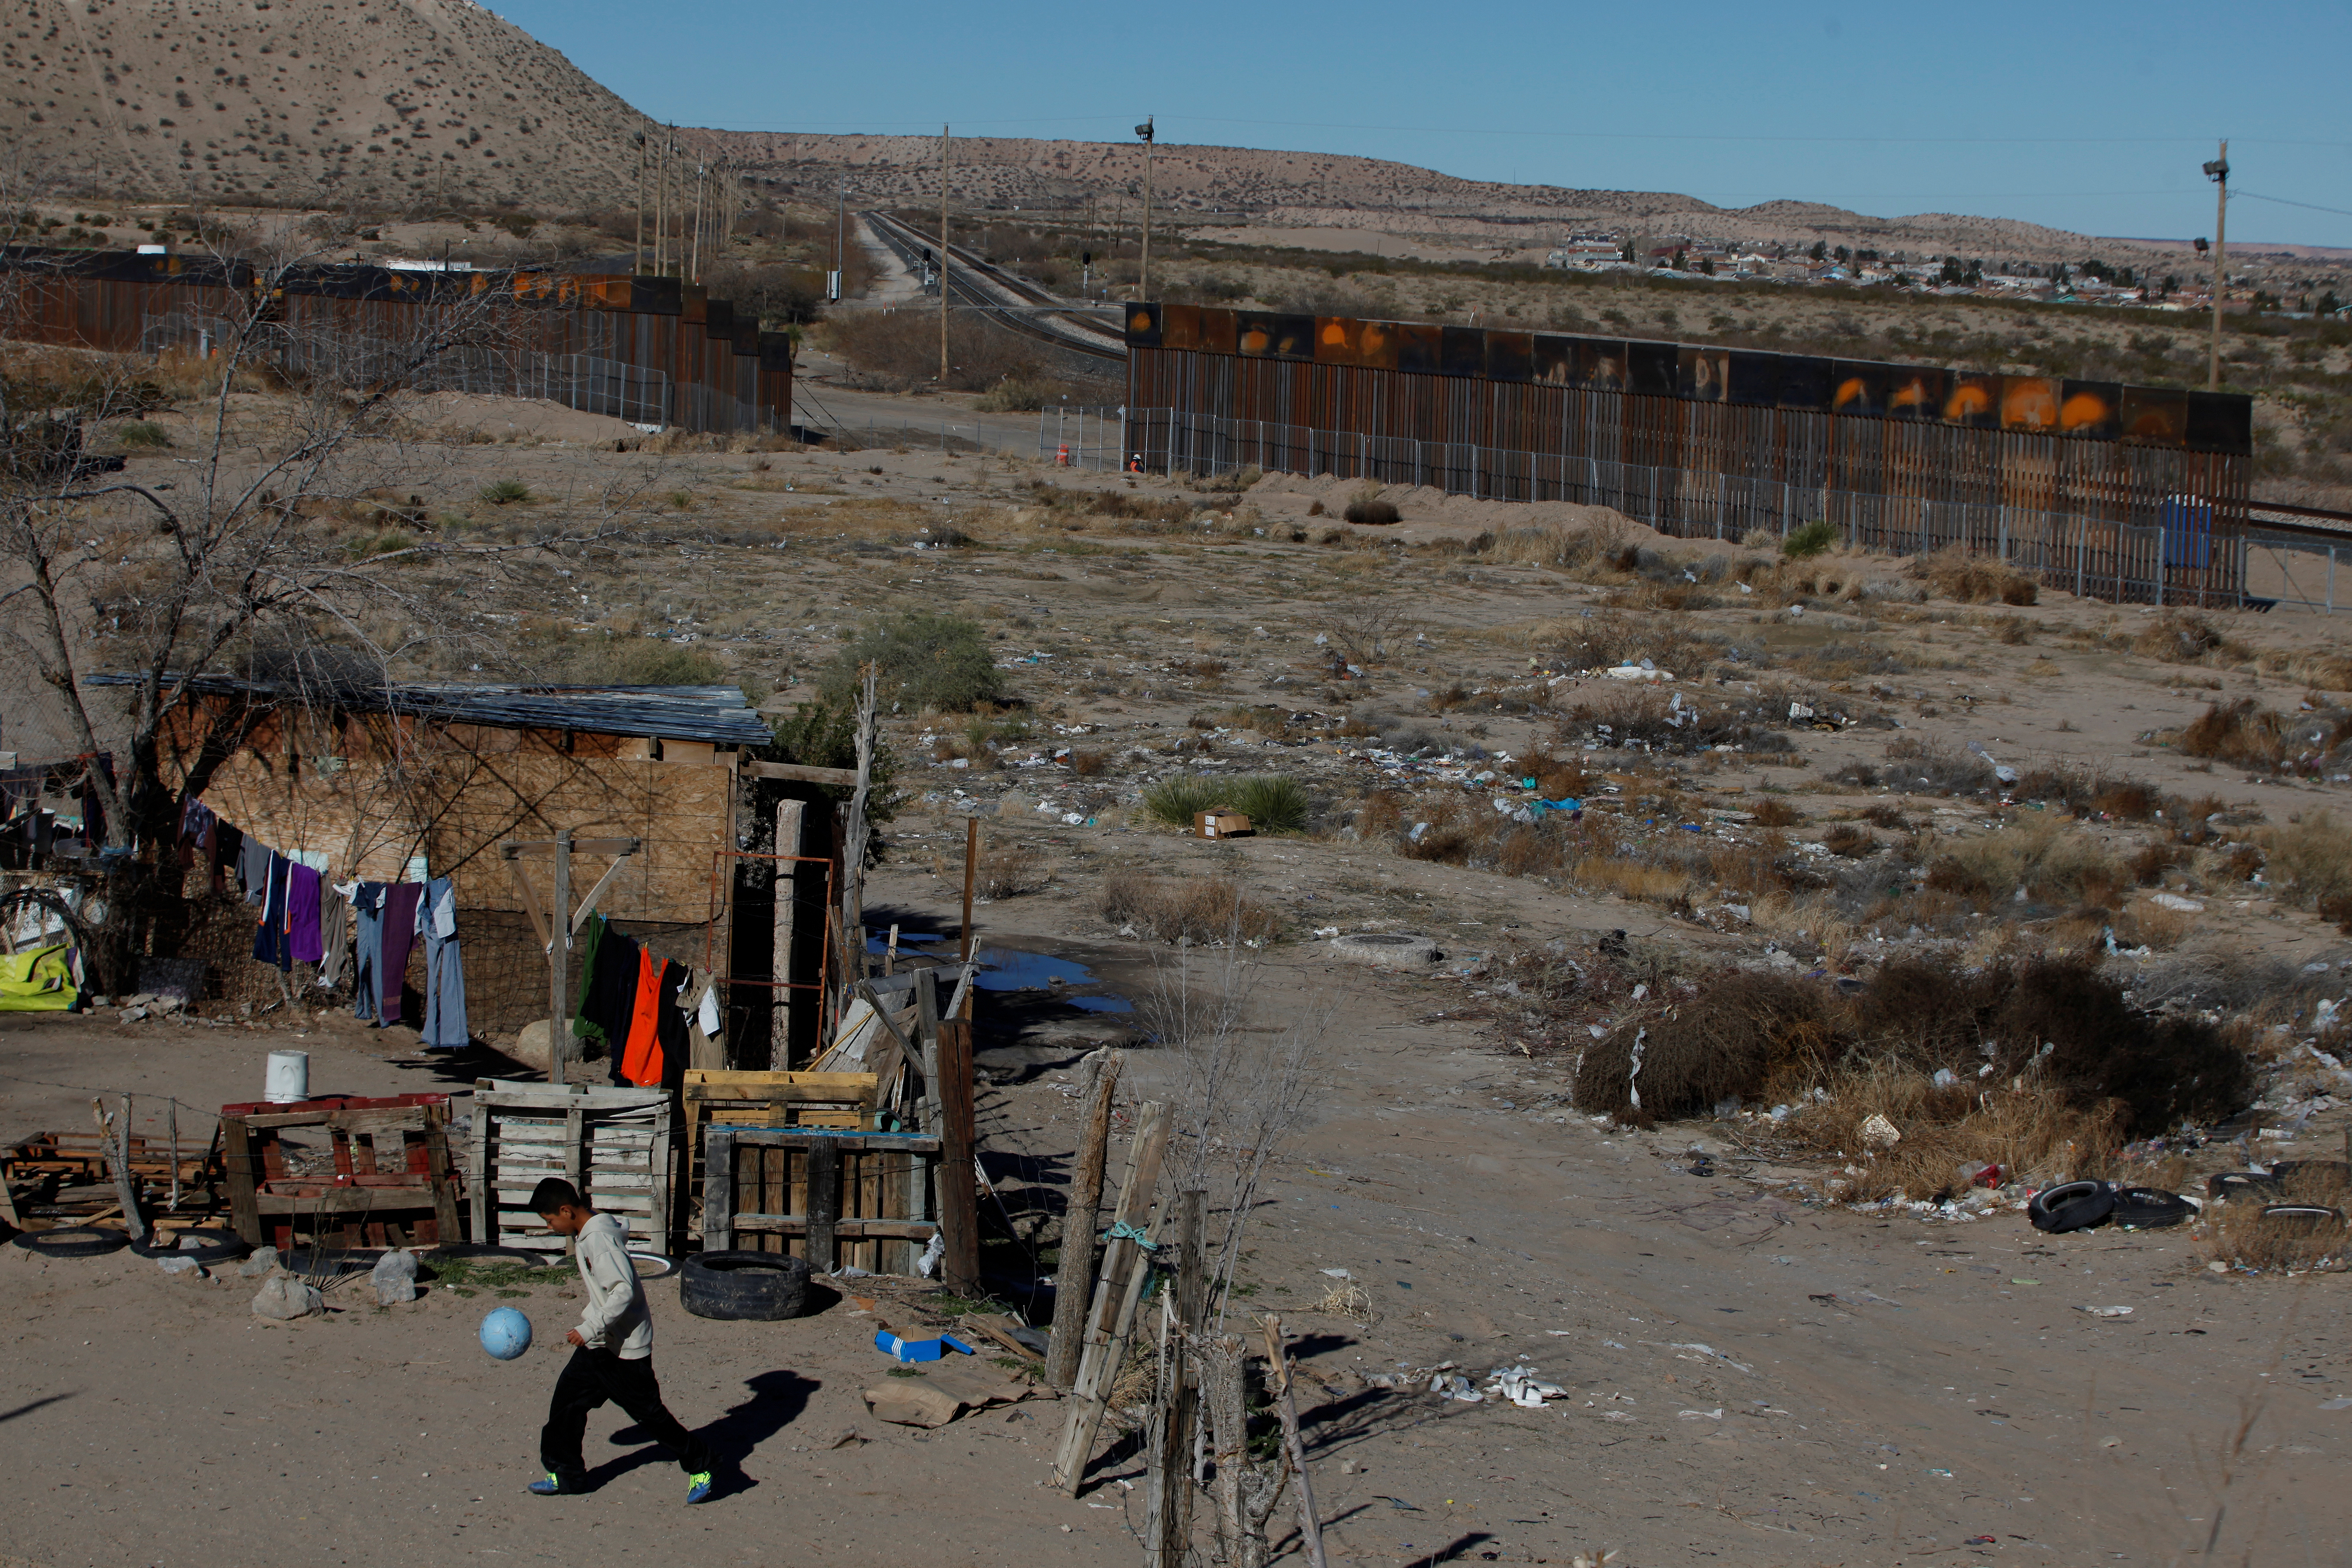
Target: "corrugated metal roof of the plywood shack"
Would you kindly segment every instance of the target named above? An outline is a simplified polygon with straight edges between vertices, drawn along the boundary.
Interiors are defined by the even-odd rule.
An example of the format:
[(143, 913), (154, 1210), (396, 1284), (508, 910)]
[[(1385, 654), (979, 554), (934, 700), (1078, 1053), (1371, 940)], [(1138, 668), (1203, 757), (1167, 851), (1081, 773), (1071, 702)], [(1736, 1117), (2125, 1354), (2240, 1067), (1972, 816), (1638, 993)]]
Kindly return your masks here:
[[(82, 679), (85, 686), (132, 686), (136, 682), (136, 675), (89, 675)], [(263, 703), (343, 708), (346, 712), (400, 712), (492, 729), (579, 729), (597, 736), (654, 736), (720, 745), (764, 745), (771, 738), (769, 726), (743, 701), (741, 686), (372, 686), (195, 675), (186, 679), (186, 689), (202, 696), (247, 696)]]

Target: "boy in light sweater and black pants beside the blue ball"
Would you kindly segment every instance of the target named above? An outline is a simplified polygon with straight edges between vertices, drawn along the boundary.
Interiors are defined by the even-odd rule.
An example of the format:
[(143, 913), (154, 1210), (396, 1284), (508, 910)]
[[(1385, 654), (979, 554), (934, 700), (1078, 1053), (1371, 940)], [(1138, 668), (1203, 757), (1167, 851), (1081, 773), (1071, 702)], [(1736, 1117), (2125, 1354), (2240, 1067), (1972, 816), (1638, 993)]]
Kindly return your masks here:
[(710, 1495), (710, 1446), (687, 1432), (661, 1403), (654, 1380), (654, 1316), (644, 1309), (644, 1286), (628, 1258), (628, 1227), (609, 1213), (590, 1208), (579, 1190), (548, 1178), (532, 1190), (532, 1213), (557, 1237), (572, 1237), (572, 1262), (579, 1265), (588, 1309), (581, 1326), (564, 1335), (572, 1361), (555, 1380), (548, 1399), (548, 1425), (539, 1429), (539, 1462), (546, 1481), (532, 1481), (541, 1497), (588, 1490), (588, 1465), (581, 1462), (581, 1434), (588, 1410), (607, 1399), (668, 1448), (687, 1472), (687, 1502)]

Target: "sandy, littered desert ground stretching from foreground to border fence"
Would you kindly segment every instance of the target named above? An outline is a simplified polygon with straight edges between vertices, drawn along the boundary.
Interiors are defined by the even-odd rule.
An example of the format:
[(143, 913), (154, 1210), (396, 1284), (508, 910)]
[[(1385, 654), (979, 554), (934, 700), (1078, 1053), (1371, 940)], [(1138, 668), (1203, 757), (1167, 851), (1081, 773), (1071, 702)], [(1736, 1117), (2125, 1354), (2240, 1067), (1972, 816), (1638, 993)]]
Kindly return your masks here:
[[(485, 418), (499, 416), (442, 409), (419, 423)], [(1475, 541), (1498, 527), (1599, 524), (1628, 545), (1686, 557), (1693, 576), (1708, 555), (1743, 548), (1658, 541), (1588, 508), (1402, 491), (1390, 496), (1404, 512), (1397, 527), (1355, 529), (1329, 515), (1352, 487), (1327, 480), (1190, 491), (913, 447), (612, 451), (623, 437), (602, 425), (524, 409), (510, 418), (515, 440), (419, 449), (416, 484), (445, 531), (527, 538), (609, 501), (616, 480), (626, 529), (586, 550), (522, 552), (496, 578), (449, 571), (485, 637), (532, 616), (546, 637), (576, 635), (572, 625), (659, 632), (786, 701), (814, 691), (863, 618), (910, 604), (978, 618), (1007, 654), (1025, 705), (1000, 719), (1028, 719), (1025, 733), (974, 738), (962, 717), (936, 715), (887, 726), (906, 804), (868, 896), (877, 924), (955, 929), (974, 811), (997, 851), (1028, 851), (1016, 879), (1025, 891), (978, 910), (981, 938), (1084, 964), (1105, 992), (1143, 999), (1178, 961), (1101, 914), (1112, 872), (1230, 877), (1279, 917), (1282, 938), (1254, 954), (1251, 1016), (1272, 1030), (1329, 1009), (1329, 1025), (1317, 1100), (1249, 1232), (1237, 1309), (1279, 1312), (1303, 1335), (1310, 1462), (1336, 1561), (2331, 1554), (2328, 1476), (2343, 1476), (2340, 1425), (2352, 1420), (2352, 1408), (2328, 1408), (2347, 1392), (2331, 1354), (2338, 1274), (2216, 1274), (2190, 1229), (2042, 1237), (2013, 1204), (1973, 1218), (1842, 1206), (1828, 1197), (1835, 1161), (1755, 1157), (1764, 1145), (1752, 1117), (1646, 1131), (1597, 1121), (1569, 1103), (1569, 1058), (1519, 1048), (1517, 1004), (1479, 964), (1548, 943), (1588, 954), (1625, 931), (1632, 952), (1665, 971), (1771, 966), (1776, 952), (1802, 950), (1867, 973), (1853, 950), (1924, 952), (1943, 938), (1884, 919), (1828, 936), (1795, 914), (1771, 929), (1691, 919), (1573, 879), (1406, 858), (1392, 835), (1350, 823), (1374, 790), (1461, 792), (1444, 776), (1414, 783), (1402, 750), (1383, 745), (1392, 733), (1425, 731), (1428, 745), (1414, 745), (1425, 755), (1470, 743), (1581, 755), (1562, 741), (1562, 719), (1613, 682), (1564, 670), (1552, 684), (1543, 670), (1564, 635), (1618, 616), (1661, 637), (1719, 632), (1752, 649), (1759, 670), (1816, 670), (1809, 679), (1856, 712), (1900, 724), (1804, 729), (1790, 755), (1585, 755), (1623, 773), (1628, 797), (1670, 785), (1708, 811), (1780, 799), (1802, 818), (1795, 839), (1870, 806), (1896, 806), (1938, 844), (1983, 835), (1994, 816), (1983, 799), (1900, 776), (1837, 783), (1849, 764), (1886, 764), (1891, 738), (1912, 738), (2213, 792), (2246, 823), (2284, 825), (2340, 806), (2345, 788), (2241, 776), (2143, 736), (2216, 698), (2296, 710), (2307, 658), (2343, 654), (2340, 623), (2216, 614), (2213, 628), (2246, 656), (2166, 663), (2133, 651), (2152, 611), (2063, 592), (2016, 609), (1957, 604), (1922, 597), (1903, 562), (1844, 557), (1832, 559), (1835, 595), (1724, 588), (1705, 607), (1686, 597), (1672, 609), (1642, 574), (1519, 564)], [(162, 473), (172, 461), (134, 456), (132, 468)], [(475, 501), (496, 477), (524, 480), (536, 498)], [(1091, 510), (1094, 494), (1167, 510), (1115, 517)], [(950, 527), (971, 543), (929, 548)], [(1849, 595), (1844, 583), (1886, 588)], [(548, 616), (555, 595), (576, 618)], [(1397, 614), (1383, 623), (1395, 646), (1364, 679), (1334, 679), (1315, 637), (1362, 628), (1367, 604)], [(2265, 672), (2263, 654), (2279, 672)], [(1729, 691), (1703, 684), (1705, 670), (1686, 679), (1708, 701)], [(1529, 698), (1538, 686), (1541, 701)], [(1508, 696), (1508, 710), (1479, 696)], [(1235, 722), (1261, 705), (1352, 715), (1371, 733)], [(1195, 715), (1209, 729), (1190, 726)], [(1056, 766), (1054, 726), (1084, 726), (1068, 743), (1105, 752), (1103, 771)], [(1211, 759), (1301, 776), (1319, 827), (1202, 844), (1134, 811), (1145, 778)], [(1044, 802), (1054, 809), (1040, 811)], [(1063, 820), (1073, 813), (1077, 825)], [(2126, 853), (2145, 827), (2091, 820), (2079, 832)], [(2145, 891), (2129, 898), (2145, 912)], [(2152, 983), (2251, 952), (2328, 964), (2333, 976), (2352, 957), (2277, 886), (2204, 889), (2194, 903), (2201, 910), (2173, 924), (2150, 914), (2145, 926), (2169, 945), (2112, 959), (2119, 973)], [(2032, 917), (2058, 931), (2067, 914)], [(1414, 976), (1338, 966), (1312, 936), (1331, 926), (1421, 931), (1446, 957)], [(1056, 1239), (1077, 1138), (1065, 1088), (1082, 1053), (1134, 1046), (1122, 1103), (1167, 1093), (1174, 1070), (1120, 1016), (1061, 1006), (1051, 992), (983, 1001), (981, 1034), (983, 1164), (1007, 1215), (990, 1258), (1011, 1288), (1044, 1272), (1035, 1253)], [(82, 1126), (92, 1093), (132, 1093), (139, 1131), (160, 1133), (176, 1098), (181, 1138), (202, 1140), (205, 1110), (254, 1098), (278, 1046), (310, 1051), (322, 1091), (463, 1088), (487, 1067), (513, 1072), (492, 1051), (421, 1058), (407, 1034), (310, 1011), (216, 1025), (5, 1018), (0, 1128), (16, 1138)], [(2249, 1154), (2331, 1152), (2345, 1112), (2331, 1100), (2265, 1138), (2279, 1121), (2291, 1119), (2256, 1112), (2223, 1128), (2225, 1143), (2178, 1171), (2183, 1190), (2201, 1192), (2204, 1171)], [(1124, 1140), (1112, 1173), (1122, 1152)], [(1341, 1309), (1331, 1269), (1348, 1272), (1362, 1302)], [(607, 1486), (581, 1500), (527, 1497), (572, 1293), (562, 1279), (529, 1288), (515, 1305), (539, 1345), (494, 1363), (473, 1338), (492, 1302), (447, 1291), (376, 1307), (358, 1279), (329, 1295), (327, 1316), (275, 1326), (252, 1316), (252, 1281), (233, 1267), (205, 1281), (162, 1276), (127, 1253), (42, 1262), (0, 1248), (0, 1453), (14, 1479), (0, 1561), (249, 1561), (292, 1542), (346, 1563), (680, 1547), (746, 1563), (1101, 1563), (1136, 1552), (1129, 1436), (1105, 1429), (1089, 1490), (1068, 1500), (1044, 1483), (1054, 1403), (934, 1434), (889, 1427), (858, 1399), (884, 1361), (851, 1300), (790, 1324), (713, 1324), (677, 1307), (675, 1284), (652, 1286), (656, 1366), (673, 1408), (729, 1455), (724, 1495), (682, 1514), (666, 1460), (597, 1420), (590, 1453)], [(1571, 1396), (1519, 1410), (1369, 1382), (1449, 1361), (1477, 1375), (1522, 1356)]]

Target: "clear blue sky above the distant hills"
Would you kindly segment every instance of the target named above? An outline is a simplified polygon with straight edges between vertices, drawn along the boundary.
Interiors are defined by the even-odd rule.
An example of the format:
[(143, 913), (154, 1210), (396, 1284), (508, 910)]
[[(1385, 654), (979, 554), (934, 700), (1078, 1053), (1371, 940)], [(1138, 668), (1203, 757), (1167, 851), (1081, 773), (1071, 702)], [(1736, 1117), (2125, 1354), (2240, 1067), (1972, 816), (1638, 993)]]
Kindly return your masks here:
[(2352, 5), (501, 0), (680, 125), (1162, 141), (1470, 179), (2352, 247)]

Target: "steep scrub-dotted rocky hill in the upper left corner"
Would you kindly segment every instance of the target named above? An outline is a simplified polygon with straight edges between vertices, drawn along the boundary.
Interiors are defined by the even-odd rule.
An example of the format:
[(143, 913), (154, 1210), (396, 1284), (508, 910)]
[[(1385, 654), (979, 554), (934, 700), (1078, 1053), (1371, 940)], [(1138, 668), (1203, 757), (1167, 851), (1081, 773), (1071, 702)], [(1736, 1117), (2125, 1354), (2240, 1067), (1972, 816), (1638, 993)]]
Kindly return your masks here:
[(9, 195), (635, 200), (637, 113), (470, 0), (16, 0)]

